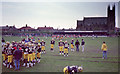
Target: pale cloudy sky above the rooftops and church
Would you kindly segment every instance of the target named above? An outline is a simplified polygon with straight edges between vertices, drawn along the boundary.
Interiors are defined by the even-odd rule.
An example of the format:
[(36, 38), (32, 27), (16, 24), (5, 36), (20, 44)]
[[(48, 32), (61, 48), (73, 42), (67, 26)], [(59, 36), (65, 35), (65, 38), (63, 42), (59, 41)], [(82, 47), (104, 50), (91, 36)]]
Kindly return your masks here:
[(108, 5), (116, 5), (116, 26), (118, 27), (117, 2), (2, 2), (2, 26), (26, 24), (32, 28), (54, 27), (75, 29), (77, 20), (83, 17), (107, 17)]

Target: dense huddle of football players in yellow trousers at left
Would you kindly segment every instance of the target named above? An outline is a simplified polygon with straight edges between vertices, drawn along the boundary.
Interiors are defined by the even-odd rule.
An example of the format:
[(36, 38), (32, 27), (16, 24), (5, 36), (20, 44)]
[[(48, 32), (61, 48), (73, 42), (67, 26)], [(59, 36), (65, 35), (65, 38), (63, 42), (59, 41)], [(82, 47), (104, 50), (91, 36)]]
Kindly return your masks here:
[[(41, 58), (41, 44), (37, 42), (27, 41), (25, 40), (20, 42), (13, 41), (12, 43), (6, 42), (3, 45), (2, 48), (2, 56), (3, 56), (3, 65), (7, 68), (13, 68), (14, 67), (14, 57), (13, 53), (16, 50), (17, 46), (19, 46), (18, 49), (22, 50), (22, 56), (23, 60), (21, 58), (21, 61), (23, 62), (23, 66), (33, 67), (36, 62), (40, 62)], [(35, 54), (37, 54), (37, 61)]]

